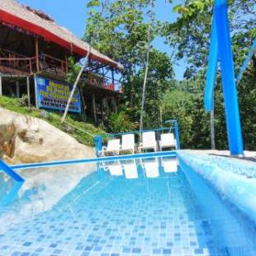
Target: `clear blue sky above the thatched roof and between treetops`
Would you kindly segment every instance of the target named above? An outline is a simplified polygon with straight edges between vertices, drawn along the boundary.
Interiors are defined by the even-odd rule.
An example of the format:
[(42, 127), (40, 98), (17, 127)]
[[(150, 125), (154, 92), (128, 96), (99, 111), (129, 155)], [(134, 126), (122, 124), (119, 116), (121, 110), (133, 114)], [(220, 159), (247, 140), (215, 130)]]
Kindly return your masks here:
[[(175, 0), (174, 2), (181, 1)], [(86, 26), (86, 4), (88, 0), (18, 0), (18, 2), (49, 14), (59, 26), (68, 28), (79, 38), (83, 36)], [(170, 4), (166, 3), (165, 0), (157, 0), (154, 11), (161, 21), (174, 21), (177, 17), (177, 14), (172, 12)], [(168, 55), (172, 53), (172, 49), (168, 45), (164, 45), (164, 40), (161, 38), (154, 40), (154, 46)], [(179, 65), (175, 65), (174, 71), (176, 78), (182, 79), (185, 63), (181, 61)]]

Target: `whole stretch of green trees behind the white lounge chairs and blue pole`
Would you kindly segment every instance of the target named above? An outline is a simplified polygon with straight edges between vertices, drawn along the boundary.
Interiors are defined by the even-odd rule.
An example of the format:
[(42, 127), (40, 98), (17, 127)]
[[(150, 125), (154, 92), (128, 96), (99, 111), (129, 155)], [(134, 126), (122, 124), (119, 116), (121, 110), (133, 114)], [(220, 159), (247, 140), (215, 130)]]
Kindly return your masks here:
[[(153, 7), (156, 0), (91, 0), (88, 2), (85, 40), (125, 67), (124, 98), (119, 114), (111, 116), (110, 131), (124, 127), (138, 128), (142, 85), (145, 74), (147, 32), (150, 43), (161, 36), (173, 50), (168, 56), (151, 46), (149, 76), (145, 95), (144, 128), (160, 125), (163, 119), (178, 119), (183, 148), (211, 148), (210, 114), (203, 106), (206, 83), (207, 55), (209, 50), (213, 0), (188, 0), (174, 5), (178, 18), (173, 22), (157, 20)], [(235, 72), (256, 36), (254, 0), (230, 0), (229, 16), (234, 51)], [(173, 1), (166, 1), (172, 12)], [(93, 34), (93, 38), (92, 38)], [(153, 45), (153, 44), (151, 44)], [(186, 61), (182, 81), (174, 79), (173, 64)], [(239, 107), (245, 149), (256, 150), (256, 57), (238, 85)], [(216, 79), (215, 92), (216, 148), (227, 149), (225, 110), (220, 81)], [(122, 125), (123, 124), (123, 125)], [(130, 129), (131, 130), (131, 129)]]

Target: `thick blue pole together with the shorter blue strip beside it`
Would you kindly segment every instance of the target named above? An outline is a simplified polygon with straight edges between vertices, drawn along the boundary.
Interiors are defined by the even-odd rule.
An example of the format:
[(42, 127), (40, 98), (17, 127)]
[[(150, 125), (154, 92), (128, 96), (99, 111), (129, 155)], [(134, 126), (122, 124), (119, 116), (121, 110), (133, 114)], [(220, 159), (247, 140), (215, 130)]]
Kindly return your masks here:
[(214, 4), (209, 64), (206, 77), (206, 111), (211, 111), (213, 108), (214, 83), (216, 79), (218, 57), (220, 59), (230, 154), (244, 154), (239, 105), (235, 84), (235, 70), (230, 40), (227, 0), (215, 0)]

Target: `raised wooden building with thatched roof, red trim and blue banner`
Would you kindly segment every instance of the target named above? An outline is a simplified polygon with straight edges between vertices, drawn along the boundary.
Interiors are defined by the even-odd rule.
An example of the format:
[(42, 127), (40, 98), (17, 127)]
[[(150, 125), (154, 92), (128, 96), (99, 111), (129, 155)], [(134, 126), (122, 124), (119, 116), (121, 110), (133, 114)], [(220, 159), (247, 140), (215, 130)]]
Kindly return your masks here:
[[(72, 88), (64, 82), (68, 59), (73, 56), (78, 62), (88, 50), (86, 42), (45, 13), (15, 0), (0, 1), (0, 96), (27, 94), (31, 105), (63, 111)], [(116, 111), (121, 80), (116, 80), (115, 75), (121, 77), (122, 66), (94, 49), (89, 62), (77, 99), (73, 99), (81, 106), (73, 105), (73, 110), (84, 112), (97, 123), (110, 111)]]

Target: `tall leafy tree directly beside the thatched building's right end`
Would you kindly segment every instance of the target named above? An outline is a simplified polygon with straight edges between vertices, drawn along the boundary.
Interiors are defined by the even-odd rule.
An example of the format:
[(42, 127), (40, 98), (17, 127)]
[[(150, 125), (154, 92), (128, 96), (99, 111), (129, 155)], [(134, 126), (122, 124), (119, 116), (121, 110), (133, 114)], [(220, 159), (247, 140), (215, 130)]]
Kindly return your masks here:
[[(88, 2), (89, 17), (84, 39), (91, 40), (93, 47), (124, 65), (124, 105), (121, 108), (130, 115), (133, 121), (140, 119), (149, 27), (145, 13), (149, 12), (149, 5), (152, 2), (154, 5), (154, 1), (150, 0)], [(150, 17), (149, 43), (159, 35), (160, 31), (160, 24), (156, 21), (154, 12), (150, 14)], [(94, 36), (91, 39), (92, 32)], [(146, 84), (145, 127), (155, 125), (154, 115), (159, 112), (159, 99), (168, 88), (168, 82), (172, 78), (171, 59), (168, 55), (151, 47)]]

